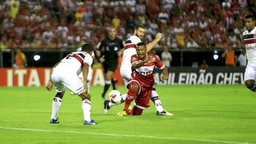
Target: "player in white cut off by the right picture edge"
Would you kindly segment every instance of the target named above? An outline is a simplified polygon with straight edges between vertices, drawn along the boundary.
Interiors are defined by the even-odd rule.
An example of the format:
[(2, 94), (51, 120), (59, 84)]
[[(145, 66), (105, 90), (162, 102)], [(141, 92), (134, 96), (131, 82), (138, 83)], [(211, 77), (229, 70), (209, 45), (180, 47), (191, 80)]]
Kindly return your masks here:
[(246, 49), (247, 66), (244, 72), (244, 84), (248, 89), (256, 92), (256, 27), (252, 14), (244, 17), (246, 30), (243, 32), (243, 40)]

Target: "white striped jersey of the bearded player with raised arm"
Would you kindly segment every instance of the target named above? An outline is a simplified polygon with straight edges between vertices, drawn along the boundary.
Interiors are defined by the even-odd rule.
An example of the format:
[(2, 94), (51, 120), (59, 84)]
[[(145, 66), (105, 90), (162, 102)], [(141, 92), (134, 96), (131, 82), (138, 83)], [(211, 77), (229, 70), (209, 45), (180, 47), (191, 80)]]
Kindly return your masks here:
[(141, 39), (136, 35), (132, 35), (131, 37), (128, 38), (124, 47), (124, 54), (123, 54), (121, 67), (124, 66), (124, 68), (131, 69), (131, 66), (132, 66), (131, 56), (137, 54), (136, 45), (139, 42), (141, 42)]

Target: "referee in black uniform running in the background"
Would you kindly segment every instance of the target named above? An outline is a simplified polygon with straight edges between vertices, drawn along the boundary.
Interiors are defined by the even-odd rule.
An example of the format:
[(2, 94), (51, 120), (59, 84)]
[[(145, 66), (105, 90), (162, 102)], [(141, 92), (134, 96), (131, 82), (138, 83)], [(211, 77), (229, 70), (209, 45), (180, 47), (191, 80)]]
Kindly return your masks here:
[(109, 86), (113, 85), (113, 90), (117, 89), (117, 79), (113, 79), (112, 76), (118, 65), (118, 57), (124, 52), (124, 41), (116, 37), (116, 28), (110, 27), (108, 31), (108, 37), (104, 38), (97, 45), (97, 56), (99, 62), (102, 63), (105, 73), (105, 86), (101, 95), (102, 99), (105, 99), (106, 92)]

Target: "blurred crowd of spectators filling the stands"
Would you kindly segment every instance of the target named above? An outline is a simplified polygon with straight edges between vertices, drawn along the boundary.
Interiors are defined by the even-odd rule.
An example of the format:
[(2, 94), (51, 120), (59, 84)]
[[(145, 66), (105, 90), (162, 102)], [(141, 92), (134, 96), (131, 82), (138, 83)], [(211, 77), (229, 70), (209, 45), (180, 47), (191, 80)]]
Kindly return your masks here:
[(256, 16), (256, 0), (1, 0), (1, 49), (76, 49), (92, 45), (116, 27), (124, 41), (137, 24), (144, 42), (169, 49), (243, 48), (244, 16)]

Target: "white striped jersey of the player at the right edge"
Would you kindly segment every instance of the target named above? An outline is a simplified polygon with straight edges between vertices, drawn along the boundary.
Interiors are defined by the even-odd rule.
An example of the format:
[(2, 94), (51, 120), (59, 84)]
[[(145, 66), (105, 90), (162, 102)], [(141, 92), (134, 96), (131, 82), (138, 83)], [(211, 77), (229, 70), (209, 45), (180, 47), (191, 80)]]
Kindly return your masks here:
[(246, 49), (246, 56), (249, 63), (256, 63), (256, 27), (252, 31), (243, 32), (243, 40)]

